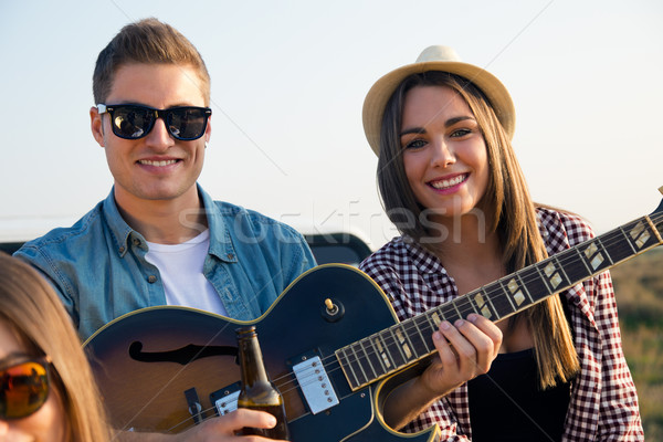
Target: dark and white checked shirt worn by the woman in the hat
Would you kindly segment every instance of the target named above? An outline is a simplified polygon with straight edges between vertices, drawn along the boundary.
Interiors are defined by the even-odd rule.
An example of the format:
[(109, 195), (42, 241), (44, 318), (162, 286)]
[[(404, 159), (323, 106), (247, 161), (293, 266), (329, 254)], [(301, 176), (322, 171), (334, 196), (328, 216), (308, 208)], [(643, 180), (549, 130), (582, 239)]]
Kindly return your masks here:
[[(593, 238), (591, 228), (579, 217), (549, 209), (538, 209), (537, 217), (550, 255)], [(457, 296), (455, 283), (440, 260), (402, 236), (367, 257), (360, 269), (389, 296), (400, 320)], [(635, 386), (621, 348), (610, 273), (577, 284), (562, 296), (570, 306), (581, 367), (572, 381), (562, 440), (644, 440)], [(434, 423), (443, 441), (471, 440), (466, 383), (433, 403), (404, 431), (420, 431)]]

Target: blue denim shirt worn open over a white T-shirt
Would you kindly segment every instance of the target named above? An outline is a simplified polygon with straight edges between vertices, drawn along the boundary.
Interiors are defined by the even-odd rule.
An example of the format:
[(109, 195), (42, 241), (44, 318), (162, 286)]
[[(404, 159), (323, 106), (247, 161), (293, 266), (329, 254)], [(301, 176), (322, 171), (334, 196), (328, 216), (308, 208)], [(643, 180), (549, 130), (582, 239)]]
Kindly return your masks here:
[[(198, 192), (210, 229), (203, 274), (230, 317), (254, 319), (315, 259), (302, 234), (288, 225), (213, 201), (200, 186)], [(187, 213), (180, 220), (187, 222)], [(73, 227), (25, 243), (14, 256), (48, 278), (85, 340), (118, 316), (166, 305), (159, 271), (146, 261), (147, 251), (145, 238), (119, 214), (112, 190)]]

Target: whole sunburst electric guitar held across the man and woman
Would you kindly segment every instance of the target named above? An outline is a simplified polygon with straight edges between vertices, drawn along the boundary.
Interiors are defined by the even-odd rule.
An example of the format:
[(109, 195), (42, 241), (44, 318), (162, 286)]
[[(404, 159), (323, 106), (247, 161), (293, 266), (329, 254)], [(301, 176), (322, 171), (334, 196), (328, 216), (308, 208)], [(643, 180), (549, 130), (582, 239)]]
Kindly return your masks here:
[(186, 307), (149, 307), (86, 343), (112, 424), (178, 433), (232, 411), (240, 388), (235, 328), (255, 325), (295, 442), (438, 441), (433, 425), (404, 434), (382, 419), (388, 393), (424, 368), (440, 322), (470, 313), (506, 318), (661, 243), (663, 201), (651, 214), (399, 323), (383, 292), (343, 264), (315, 267), (252, 322)]

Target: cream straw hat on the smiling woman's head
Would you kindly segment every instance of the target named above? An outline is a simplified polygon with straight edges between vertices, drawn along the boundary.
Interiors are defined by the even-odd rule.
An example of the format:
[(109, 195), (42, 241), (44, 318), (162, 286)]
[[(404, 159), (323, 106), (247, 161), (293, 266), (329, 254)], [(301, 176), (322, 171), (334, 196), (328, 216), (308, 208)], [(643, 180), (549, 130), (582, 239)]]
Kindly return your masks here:
[(382, 76), (368, 91), (364, 99), (364, 131), (377, 156), (380, 156), (380, 126), (387, 102), (408, 75), (428, 71), (456, 74), (478, 86), (491, 102), (504, 130), (509, 138), (513, 138), (516, 128), (516, 109), (502, 82), (481, 67), (461, 62), (453, 49), (436, 45), (424, 49), (414, 63), (401, 66)]

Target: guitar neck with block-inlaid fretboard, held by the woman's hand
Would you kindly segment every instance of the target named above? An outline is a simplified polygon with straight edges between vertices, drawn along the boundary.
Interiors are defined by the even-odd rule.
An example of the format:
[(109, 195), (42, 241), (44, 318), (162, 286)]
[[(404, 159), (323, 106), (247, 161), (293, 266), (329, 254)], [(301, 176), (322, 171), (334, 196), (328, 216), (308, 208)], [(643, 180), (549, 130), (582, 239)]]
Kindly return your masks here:
[(663, 243), (663, 202), (642, 217), (480, 287), (424, 314), (336, 351), (352, 390), (407, 368), (435, 351), (432, 334), (477, 313), (504, 319)]

